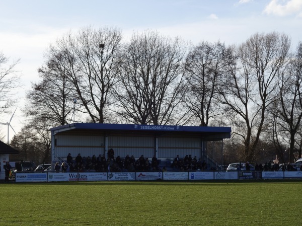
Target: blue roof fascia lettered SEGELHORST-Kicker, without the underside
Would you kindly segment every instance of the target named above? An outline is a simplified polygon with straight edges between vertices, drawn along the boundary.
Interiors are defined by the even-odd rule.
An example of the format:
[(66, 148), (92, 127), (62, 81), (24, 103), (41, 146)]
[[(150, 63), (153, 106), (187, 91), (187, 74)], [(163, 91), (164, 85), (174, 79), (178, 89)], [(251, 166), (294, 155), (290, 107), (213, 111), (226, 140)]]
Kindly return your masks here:
[(180, 126), (180, 125), (137, 125), (137, 124), (106, 124), (106, 123), (74, 123), (50, 130), (69, 129), (101, 129), (101, 130), (140, 130), (140, 131), (180, 131), (180, 132), (230, 132), (231, 127), (216, 126)]

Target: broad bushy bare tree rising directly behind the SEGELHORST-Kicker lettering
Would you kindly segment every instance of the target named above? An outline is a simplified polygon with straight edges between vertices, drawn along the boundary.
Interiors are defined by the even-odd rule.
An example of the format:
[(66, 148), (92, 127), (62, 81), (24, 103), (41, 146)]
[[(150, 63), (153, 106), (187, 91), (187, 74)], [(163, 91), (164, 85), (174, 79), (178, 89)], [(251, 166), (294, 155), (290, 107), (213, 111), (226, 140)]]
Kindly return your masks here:
[(116, 113), (125, 122), (181, 124), (186, 45), (154, 31), (133, 34), (124, 48), (115, 90)]

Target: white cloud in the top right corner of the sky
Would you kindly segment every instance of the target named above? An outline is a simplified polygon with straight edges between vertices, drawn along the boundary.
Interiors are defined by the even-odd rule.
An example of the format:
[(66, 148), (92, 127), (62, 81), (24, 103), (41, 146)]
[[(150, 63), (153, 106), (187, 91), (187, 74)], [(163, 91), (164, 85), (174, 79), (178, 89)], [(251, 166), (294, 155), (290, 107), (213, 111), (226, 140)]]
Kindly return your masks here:
[(300, 15), (302, 13), (302, 1), (301, 0), (289, 0), (285, 1), (285, 4), (279, 3), (279, 0), (271, 0), (271, 2), (265, 7), (263, 13), (275, 16), (288, 16), (288, 15)]

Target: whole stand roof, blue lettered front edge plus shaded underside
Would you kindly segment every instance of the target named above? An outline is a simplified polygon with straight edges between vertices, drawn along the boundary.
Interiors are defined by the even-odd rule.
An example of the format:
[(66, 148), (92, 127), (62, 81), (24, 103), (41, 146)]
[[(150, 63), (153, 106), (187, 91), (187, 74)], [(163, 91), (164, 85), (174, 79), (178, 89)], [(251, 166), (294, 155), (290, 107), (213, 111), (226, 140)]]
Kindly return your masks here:
[(136, 125), (73, 123), (50, 129), (54, 134), (132, 134), (155, 136), (202, 137), (205, 140), (221, 140), (231, 137), (231, 127), (178, 126), (178, 125)]

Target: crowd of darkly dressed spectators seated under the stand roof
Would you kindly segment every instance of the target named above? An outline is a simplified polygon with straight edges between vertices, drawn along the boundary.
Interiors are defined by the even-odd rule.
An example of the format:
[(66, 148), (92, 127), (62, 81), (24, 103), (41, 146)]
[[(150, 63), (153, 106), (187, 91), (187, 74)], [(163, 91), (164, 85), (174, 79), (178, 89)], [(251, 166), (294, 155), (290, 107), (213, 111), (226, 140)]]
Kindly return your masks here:
[[(58, 163), (54, 167), (55, 172), (67, 172), (67, 171), (162, 171), (165, 170), (164, 166), (161, 168), (158, 159), (154, 156), (151, 160), (144, 158), (141, 155), (138, 159), (135, 159), (127, 155), (125, 158), (120, 156), (114, 156), (114, 150), (111, 148), (108, 150), (108, 158), (106, 159), (105, 154), (93, 155), (92, 157), (82, 157), (78, 154), (73, 159), (69, 153), (66, 158), (66, 163), (63, 162), (61, 165)], [(207, 164), (201, 159), (197, 160), (196, 156), (192, 158), (191, 155), (186, 155), (184, 158), (177, 157), (174, 159), (172, 164), (168, 164), (167, 167), (172, 168), (175, 171), (189, 171), (189, 170), (206, 170)]]

